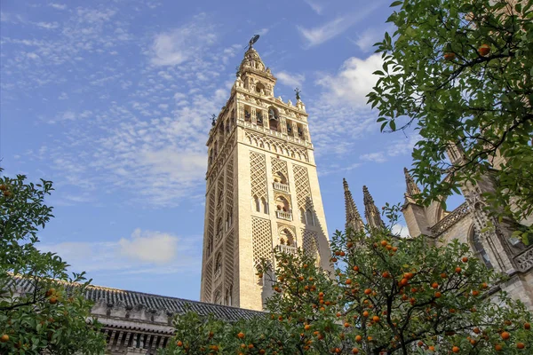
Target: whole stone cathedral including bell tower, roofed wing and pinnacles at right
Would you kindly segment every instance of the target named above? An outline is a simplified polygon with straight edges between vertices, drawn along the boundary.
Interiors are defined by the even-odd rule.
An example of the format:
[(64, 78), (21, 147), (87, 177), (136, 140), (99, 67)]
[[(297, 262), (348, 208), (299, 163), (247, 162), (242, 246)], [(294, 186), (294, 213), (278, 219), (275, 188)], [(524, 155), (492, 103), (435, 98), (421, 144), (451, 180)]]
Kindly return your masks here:
[[(174, 315), (187, 309), (227, 320), (260, 314), (271, 287), (258, 280), (256, 265), (262, 258), (274, 263), (274, 248), (294, 253), (301, 247), (322, 268), (330, 268), (306, 106), (298, 91), (295, 104), (275, 98), (275, 83), (250, 45), (226, 105), (213, 117), (207, 138), (201, 302), (90, 286), (86, 297), (94, 301), (92, 313), (104, 325), (107, 354), (155, 354), (171, 339)], [(449, 151), (451, 162), (462, 156), (458, 146)], [(425, 234), (434, 243), (468, 243), (484, 264), (509, 276), (499, 288), (533, 310), (533, 245), (512, 237), (515, 222), (499, 223), (483, 211), (481, 193), (494, 188), (490, 175), (477, 185), (463, 186), (465, 202), (446, 211), (439, 203), (418, 205), (411, 197), (419, 193), (418, 186), (404, 173), (402, 212), (410, 237)], [(346, 180), (344, 192), (346, 227), (360, 229), (362, 216)], [(366, 223), (384, 225), (366, 186), (363, 202)], [(486, 231), (489, 221), (494, 228)], [(26, 281), (17, 282), (28, 292)]]

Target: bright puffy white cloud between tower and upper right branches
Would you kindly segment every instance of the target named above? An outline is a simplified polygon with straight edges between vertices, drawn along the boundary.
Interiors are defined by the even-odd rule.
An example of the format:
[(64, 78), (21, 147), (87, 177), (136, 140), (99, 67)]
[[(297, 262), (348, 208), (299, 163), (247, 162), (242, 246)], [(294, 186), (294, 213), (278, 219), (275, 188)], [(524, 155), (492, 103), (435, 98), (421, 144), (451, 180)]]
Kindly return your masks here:
[(324, 75), (317, 83), (329, 91), (327, 94), (333, 102), (364, 106), (368, 100), (366, 95), (378, 81), (378, 76), (372, 73), (382, 65), (379, 54), (367, 59), (352, 57), (346, 59), (337, 75)]

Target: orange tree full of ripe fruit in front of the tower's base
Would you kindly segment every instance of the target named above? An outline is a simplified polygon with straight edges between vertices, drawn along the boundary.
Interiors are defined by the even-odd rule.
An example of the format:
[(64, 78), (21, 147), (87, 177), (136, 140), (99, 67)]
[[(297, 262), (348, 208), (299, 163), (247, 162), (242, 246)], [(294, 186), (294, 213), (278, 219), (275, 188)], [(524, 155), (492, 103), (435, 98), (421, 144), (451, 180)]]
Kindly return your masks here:
[[(387, 209), (394, 215), (394, 208)], [(504, 280), (465, 244), (400, 239), (390, 228), (337, 232), (333, 272), (313, 257), (275, 253), (268, 313), (226, 323), (176, 320), (163, 354), (526, 354), (532, 314), (498, 289)], [(198, 328), (200, 331), (192, 332)]]

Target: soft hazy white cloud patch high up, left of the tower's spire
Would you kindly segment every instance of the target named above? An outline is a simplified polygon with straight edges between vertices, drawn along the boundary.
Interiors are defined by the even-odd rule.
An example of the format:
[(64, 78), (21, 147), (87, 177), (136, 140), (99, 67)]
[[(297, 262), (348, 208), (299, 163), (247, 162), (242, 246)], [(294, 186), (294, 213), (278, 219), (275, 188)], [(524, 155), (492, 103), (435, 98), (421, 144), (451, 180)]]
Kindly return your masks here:
[(154, 38), (150, 62), (155, 66), (175, 66), (192, 59), (198, 51), (214, 43), (216, 35), (205, 15)]

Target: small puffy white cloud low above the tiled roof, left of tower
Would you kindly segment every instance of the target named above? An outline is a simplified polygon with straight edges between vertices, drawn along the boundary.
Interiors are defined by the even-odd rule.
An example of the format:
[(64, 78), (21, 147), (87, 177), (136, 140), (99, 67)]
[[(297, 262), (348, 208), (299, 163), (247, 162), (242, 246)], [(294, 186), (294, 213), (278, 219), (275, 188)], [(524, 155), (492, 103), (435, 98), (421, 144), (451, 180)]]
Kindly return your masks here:
[(118, 241), (120, 253), (141, 262), (164, 264), (176, 257), (178, 238), (168, 234), (141, 231), (139, 228), (131, 234), (131, 239)]

